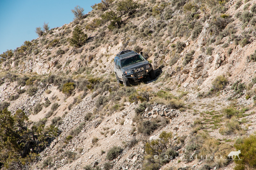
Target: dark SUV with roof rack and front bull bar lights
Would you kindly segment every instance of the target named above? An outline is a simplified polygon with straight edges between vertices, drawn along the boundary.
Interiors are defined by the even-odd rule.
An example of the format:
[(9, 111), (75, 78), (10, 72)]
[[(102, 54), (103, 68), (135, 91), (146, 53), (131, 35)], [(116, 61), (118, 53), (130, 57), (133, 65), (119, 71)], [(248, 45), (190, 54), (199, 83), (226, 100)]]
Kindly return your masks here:
[(118, 53), (114, 59), (114, 71), (116, 74), (117, 83), (123, 81), (124, 86), (129, 86), (129, 81), (139, 81), (140, 79), (149, 76), (155, 79), (155, 72), (147, 58), (132, 50), (124, 50)]

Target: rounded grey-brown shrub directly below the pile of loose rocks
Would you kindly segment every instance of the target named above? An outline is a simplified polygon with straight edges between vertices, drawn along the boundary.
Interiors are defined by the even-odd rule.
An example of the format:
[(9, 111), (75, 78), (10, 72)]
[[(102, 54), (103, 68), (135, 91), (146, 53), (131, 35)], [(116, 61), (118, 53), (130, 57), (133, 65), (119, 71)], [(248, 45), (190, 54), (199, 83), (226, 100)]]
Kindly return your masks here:
[(142, 133), (144, 135), (150, 135), (157, 129), (157, 127), (157, 123), (151, 122), (150, 120), (145, 120), (139, 123), (139, 125), (137, 126), (137, 130), (139, 133)]

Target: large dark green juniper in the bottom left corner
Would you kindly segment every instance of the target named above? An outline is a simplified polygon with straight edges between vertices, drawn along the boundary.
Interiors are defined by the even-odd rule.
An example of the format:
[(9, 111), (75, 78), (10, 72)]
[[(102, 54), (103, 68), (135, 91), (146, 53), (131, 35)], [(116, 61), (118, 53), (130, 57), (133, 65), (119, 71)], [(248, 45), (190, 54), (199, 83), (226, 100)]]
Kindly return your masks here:
[(22, 110), (14, 115), (7, 108), (0, 110), (0, 162), (11, 168), (35, 158), (58, 135), (58, 128), (44, 124), (41, 121), (30, 129)]

